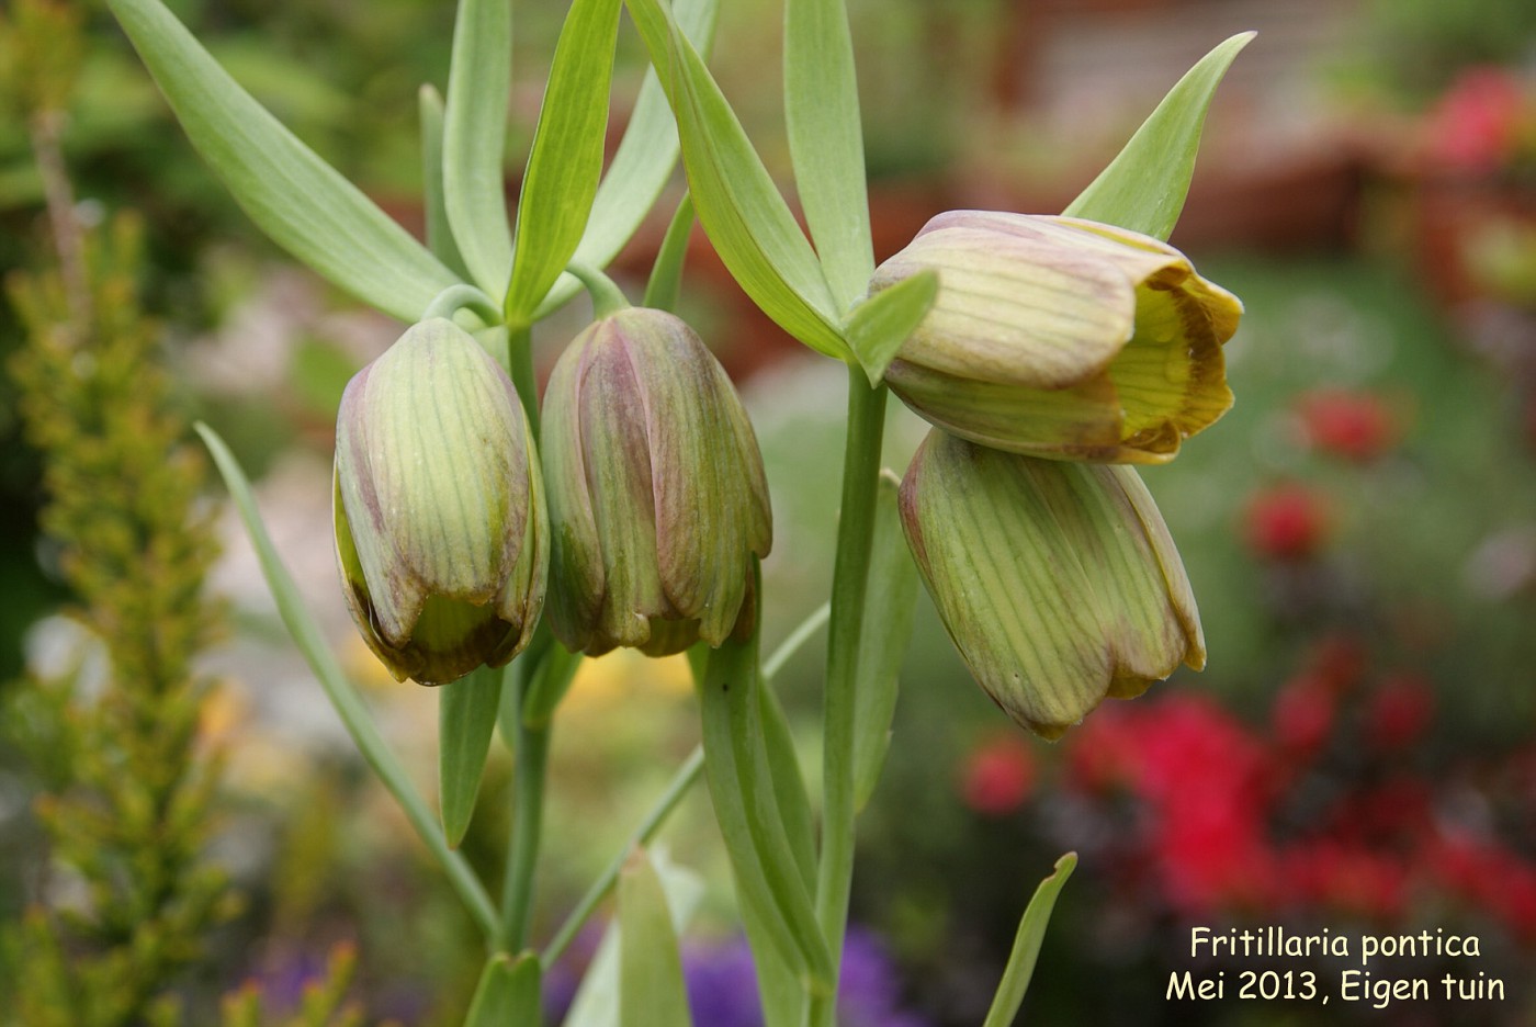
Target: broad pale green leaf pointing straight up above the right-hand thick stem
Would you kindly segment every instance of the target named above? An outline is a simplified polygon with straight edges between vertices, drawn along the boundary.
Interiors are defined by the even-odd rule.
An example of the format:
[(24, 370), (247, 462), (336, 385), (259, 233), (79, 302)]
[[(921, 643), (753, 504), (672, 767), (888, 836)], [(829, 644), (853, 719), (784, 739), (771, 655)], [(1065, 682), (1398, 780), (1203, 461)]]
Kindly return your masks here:
[(843, 0), (786, 0), (783, 114), (794, 184), (839, 310), (874, 275), (859, 78)]

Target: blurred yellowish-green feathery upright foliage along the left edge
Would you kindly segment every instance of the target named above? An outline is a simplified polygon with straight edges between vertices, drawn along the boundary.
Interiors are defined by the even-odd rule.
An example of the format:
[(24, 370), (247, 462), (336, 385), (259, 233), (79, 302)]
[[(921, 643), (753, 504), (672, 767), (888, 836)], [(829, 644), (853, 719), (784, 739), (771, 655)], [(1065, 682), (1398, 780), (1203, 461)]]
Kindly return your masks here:
[(204, 857), (218, 761), (198, 751), (192, 669), (218, 625), (201, 589), (215, 547), (207, 511), (195, 513), (203, 465), (135, 301), (137, 224), (81, 243), (71, 270), (84, 295), (71, 292), (69, 261), (11, 278), (29, 336), (12, 373), (45, 453), (43, 530), (104, 666), (92, 682), (88, 646), (8, 689), (5, 723), (31, 757), (51, 840), (34, 872), (54, 884), (34, 892), (0, 976), (29, 1027), (172, 1024), (167, 984), (232, 912)]

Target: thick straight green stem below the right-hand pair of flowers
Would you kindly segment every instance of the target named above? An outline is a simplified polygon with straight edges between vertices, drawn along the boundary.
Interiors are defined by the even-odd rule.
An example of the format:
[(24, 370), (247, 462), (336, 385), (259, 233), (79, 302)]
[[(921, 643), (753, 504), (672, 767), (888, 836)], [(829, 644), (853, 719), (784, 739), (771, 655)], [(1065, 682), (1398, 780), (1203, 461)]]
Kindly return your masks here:
[[(854, 712), (859, 636), (869, 580), (880, 441), (885, 433), (885, 387), (871, 388), (857, 365), (848, 367), (848, 445), (843, 453), (843, 500), (833, 565), (833, 619), (826, 643), (826, 698), (822, 743), (822, 857), (816, 881), (816, 918), (833, 955), (842, 961), (848, 893), (854, 870)], [(836, 1022), (831, 995), (811, 996), (813, 1027)]]

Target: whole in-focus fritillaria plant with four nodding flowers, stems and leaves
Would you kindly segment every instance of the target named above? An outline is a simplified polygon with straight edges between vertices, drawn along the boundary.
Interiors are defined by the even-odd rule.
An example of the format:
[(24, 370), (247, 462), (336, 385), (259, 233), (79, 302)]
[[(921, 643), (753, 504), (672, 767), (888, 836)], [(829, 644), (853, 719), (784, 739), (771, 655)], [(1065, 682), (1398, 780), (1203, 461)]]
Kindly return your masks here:
[[(508, 224), (510, 9), (462, 0), (447, 98), (422, 89), (425, 246), (267, 115), (160, 0), (109, 6), (257, 224), (335, 284), (416, 325), (343, 404), (336, 527), (369, 643), (398, 675), (442, 685), (441, 823), (296, 599), (240, 467), (203, 434), (295, 642), (485, 935), (468, 1022), (536, 1022), (544, 970), (614, 889), (619, 955), (587, 986), (608, 998), (578, 1002), (567, 1022), (690, 1022), (677, 949), (684, 903), (645, 846), (700, 771), (765, 1021), (836, 1022), (856, 818), (879, 777), (895, 702), (906, 632), (894, 625), (915, 591), (897, 490), (879, 465), (888, 376), (920, 413), (972, 439), (935, 428), (908, 471), (906, 533), (963, 655), (1021, 722), (1057, 734), (1103, 695), (1138, 692), (1181, 660), (1203, 660), (1178, 556), (1134, 471), (1066, 461), (1167, 459), (1230, 401), (1220, 347), (1240, 305), (1163, 239), (1183, 206), (1212, 92), (1247, 37), (1218, 46), (1175, 86), (1064, 220), (945, 215), (877, 272), (852, 46), (837, 0), (788, 0), (785, 12), (785, 114), (809, 238), (708, 72), (714, 0), (630, 0), (653, 74), (607, 167), (621, 3), (573, 0)], [(656, 203), (679, 155), (690, 192), (644, 305), (630, 307), (601, 267)], [(694, 216), (768, 316), (848, 367), (819, 821), (768, 682), (782, 657), (759, 657), (771, 597), (756, 563), (770, 523), (753, 431), (713, 358), (668, 313)], [(966, 282), (985, 279), (998, 250), (1017, 258), (1005, 264), (1012, 282), (1001, 292), (1023, 289), (1023, 302), (997, 290), (971, 295)], [(582, 287), (596, 321), (562, 356), (541, 416), (531, 327)], [(966, 335), (977, 321), (994, 327)], [(502, 364), (510, 390), (476, 347)], [(972, 416), (982, 428), (968, 425)], [(1023, 434), (1005, 439), (1017, 442), (1011, 451), (986, 448), (1014, 427)], [(966, 459), (995, 465), (1003, 487), (966, 479)], [(505, 479), (485, 480), (495, 474)], [(535, 626), (545, 500), (550, 602)], [(925, 519), (929, 504), (965, 514), (937, 523)], [(1001, 576), (975, 557), (1000, 523), (1018, 539)], [(1066, 603), (1052, 599), (1052, 577)], [(1009, 589), (1026, 582), (1038, 605), (1023, 609)], [(579, 651), (622, 645), (688, 649), (702, 757), (679, 768), (633, 844), (538, 950), (528, 924), (550, 732)], [(498, 723), (516, 760), (516, 804), (493, 903), (453, 846)], [(1071, 866), (1071, 857), (1058, 864), (1025, 913), (989, 1025), (1017, 1012)]]

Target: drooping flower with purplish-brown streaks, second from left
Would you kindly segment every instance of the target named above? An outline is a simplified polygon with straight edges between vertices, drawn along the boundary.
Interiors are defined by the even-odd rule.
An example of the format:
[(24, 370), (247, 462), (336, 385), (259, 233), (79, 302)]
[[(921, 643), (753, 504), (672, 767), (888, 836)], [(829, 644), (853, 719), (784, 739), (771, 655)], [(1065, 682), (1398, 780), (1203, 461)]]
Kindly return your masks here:
[(694, 332), (627, 309), (561, 356), (544, 401), (550, 626), (567, 648), (651, 655), (751, 623), (768, 485), (751, 422)]

